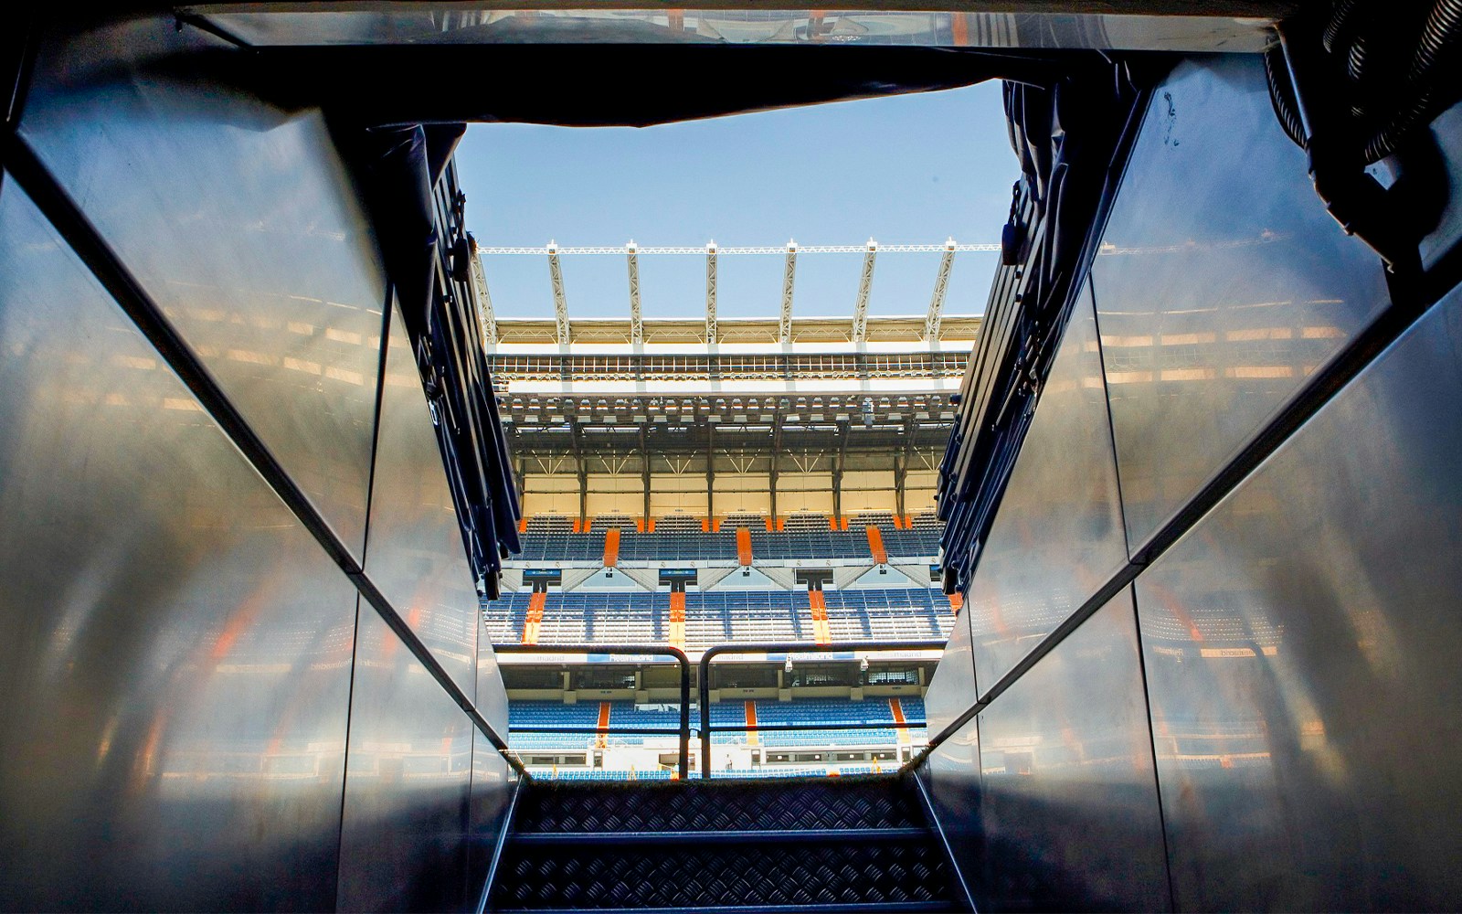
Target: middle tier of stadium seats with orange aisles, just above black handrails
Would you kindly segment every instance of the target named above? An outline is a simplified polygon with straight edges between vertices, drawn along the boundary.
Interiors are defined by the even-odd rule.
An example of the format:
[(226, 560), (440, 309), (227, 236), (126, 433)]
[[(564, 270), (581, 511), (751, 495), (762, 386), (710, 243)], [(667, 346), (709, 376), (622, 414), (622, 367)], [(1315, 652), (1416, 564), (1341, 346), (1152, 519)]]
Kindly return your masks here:
[[(814, 641), (807, 591), (689, 591), (686, 646), (727, 642)], [(949, 598), (933, 588), (823, 591), (832, 641), (927, 641), (949, 638)], [(668, 591), (548, 592), (537, 643), (664, 643)], [(523, 638), (531, 594), (484, 604), (494, 643)]]

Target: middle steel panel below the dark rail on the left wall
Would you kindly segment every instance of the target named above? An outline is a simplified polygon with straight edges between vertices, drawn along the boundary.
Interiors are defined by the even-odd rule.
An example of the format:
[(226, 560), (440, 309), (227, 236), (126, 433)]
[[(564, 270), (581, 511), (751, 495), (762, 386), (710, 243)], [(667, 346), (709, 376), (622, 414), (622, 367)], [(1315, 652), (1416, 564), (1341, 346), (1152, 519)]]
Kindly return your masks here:
[(477, 730), (380, 616), (360, 616), (339, 907), (461, 910)]

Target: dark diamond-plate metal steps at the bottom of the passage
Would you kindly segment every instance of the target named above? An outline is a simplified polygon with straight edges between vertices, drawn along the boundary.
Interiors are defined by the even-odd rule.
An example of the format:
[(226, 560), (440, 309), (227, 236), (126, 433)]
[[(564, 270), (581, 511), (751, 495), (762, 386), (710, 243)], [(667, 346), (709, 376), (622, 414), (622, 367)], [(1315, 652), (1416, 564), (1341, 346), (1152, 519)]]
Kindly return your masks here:
[(494, 911), (958, 911), (908, 777), (525, 785)]

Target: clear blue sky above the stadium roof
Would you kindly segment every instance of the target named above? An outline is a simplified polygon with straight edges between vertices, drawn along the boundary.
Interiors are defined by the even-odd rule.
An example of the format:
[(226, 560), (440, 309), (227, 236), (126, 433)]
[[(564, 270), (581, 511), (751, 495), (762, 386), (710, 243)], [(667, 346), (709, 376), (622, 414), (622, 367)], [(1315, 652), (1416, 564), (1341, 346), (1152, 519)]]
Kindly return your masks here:
[[(1019, 174), (1000, 85), (659, 127), (475, 124), (458, 149), (484, 246), (781, 246), (996, 241)], [(718, 263), (722, 317), (772, 317), (782, 257)], [(797, 262), (794, 313), (851, 314), (860, 254)], [(870, 313), (923, 314), (939, 254), (879, 257)], [(627, 316), (621, 256), (563, 257), (570, 316)], [(500, 317), (553, 314), (545, 257), (484, 260)], [(994, 254), (956, 256), (944, 310), (984, 310)], [(705, 311), (705, 259), (640, 257), (646, 317)]]

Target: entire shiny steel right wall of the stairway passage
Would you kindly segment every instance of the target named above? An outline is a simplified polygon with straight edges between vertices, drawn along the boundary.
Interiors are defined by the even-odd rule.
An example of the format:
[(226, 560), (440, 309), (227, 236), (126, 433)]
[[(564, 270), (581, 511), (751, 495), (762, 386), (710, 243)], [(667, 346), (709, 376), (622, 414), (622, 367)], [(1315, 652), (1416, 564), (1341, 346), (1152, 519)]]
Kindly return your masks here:
[[(1094, 333), (1073, 317), (966, 601), (981, 700), (946, 684), (962, 667), (925, 698), (978, 712), (923, 771), (984, 907), (1462, 894), (1462, 291), (1409, 329), (1386, 310), (1379, 259), (1325, 214), (1269, 105), (1251, 58), (1186, 63), (1155, 92), (1092, 268), (1082, 351), (1107, 402), (1058, 393)], [(1338, 354), (1339, 383), (1313, 388)], [(1146, 564), (1091, 562), (1116, 481), (1088, 427), (1108, 414)], [(1266, 459), (1231, 464), (1250, 445)], [(1022, 579), (1067, 601), (1022, 604)]]

